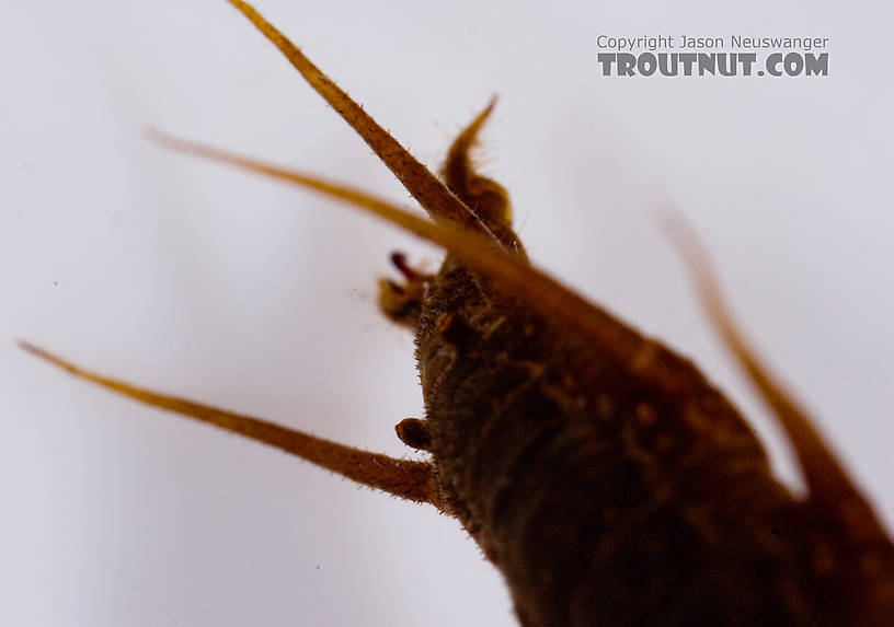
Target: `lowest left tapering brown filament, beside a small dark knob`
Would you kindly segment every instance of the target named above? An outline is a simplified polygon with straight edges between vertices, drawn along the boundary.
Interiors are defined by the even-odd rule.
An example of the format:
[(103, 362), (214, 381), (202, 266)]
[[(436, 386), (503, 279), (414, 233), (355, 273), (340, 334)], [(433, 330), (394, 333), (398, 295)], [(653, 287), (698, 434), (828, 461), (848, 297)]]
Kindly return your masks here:
[(250, 440), (291, 453), (364, 486), (378, 488), (417, 503), (432, 503), (443, 510), (432, 467), (426, 462), (398, 460), (379, 453), (362, 451), (251, 416), (159, 394), (84, 370), (26, 341), (20, 341), (19, 345), (32, 355), (67, 370), (79, 379), (96, 383), (140, 403), (239, 433)]

